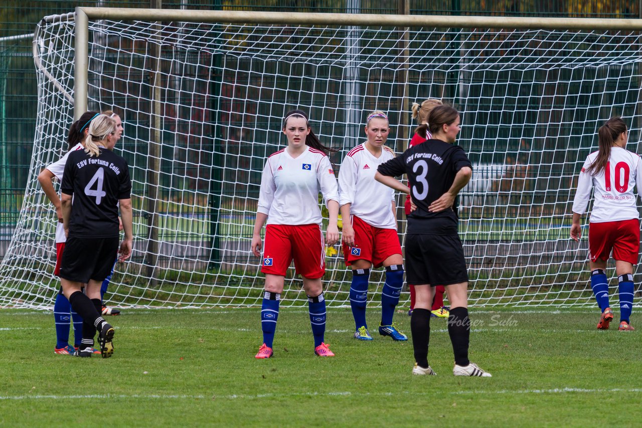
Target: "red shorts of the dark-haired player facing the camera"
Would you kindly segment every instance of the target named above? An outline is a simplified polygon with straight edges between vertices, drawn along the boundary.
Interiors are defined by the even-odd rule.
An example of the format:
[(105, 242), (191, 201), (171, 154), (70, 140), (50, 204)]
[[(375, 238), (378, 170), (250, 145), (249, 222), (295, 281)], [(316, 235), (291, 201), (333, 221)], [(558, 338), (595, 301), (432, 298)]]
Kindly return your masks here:
[(320, 278), (325, 273), (323, 242), (319, 225), (267, 225), (261, 272), (284, 277), (294, 259), (302, 277)]

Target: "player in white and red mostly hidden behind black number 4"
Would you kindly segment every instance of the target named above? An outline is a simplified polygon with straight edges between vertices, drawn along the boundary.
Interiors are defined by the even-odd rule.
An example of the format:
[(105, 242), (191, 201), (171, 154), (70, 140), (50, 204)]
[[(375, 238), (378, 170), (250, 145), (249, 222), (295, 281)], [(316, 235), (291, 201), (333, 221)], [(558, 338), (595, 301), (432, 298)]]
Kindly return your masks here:
[[(65, 169), (65, 163), (67, 162), (67, 157), (69, 153), (75, 150), (82, 150), (85, 148), (83, 146), (83, 141), (89, 133), (89, 123), (94, 117), (98, 116), (96, 112), (85, 112), (80, 116), (80, 119), (75, 121), (69, 127), (69, 133), (67, 134), (67, 143), (69, 144), (69, 151), (65, 155), (53, 162), (53, 164), (48, 165), (45, 169), (40, 171), (38, 175), (38, 182), (40, 187), (44, 191), (44, 194), (47, 196), (49, 201), (53, 203), (53, 206), (56, 208), (56, 214), (58, 215), (58, 225), (56, 226), (56, 267), (54, 270), (54, 275), (60, 273), (60, 261), (62, 260), (62, 252), (65, 248), (65, 230), (62, 227), (62, 210), (60, 206), (60, 198), (56, 193), (56, 190), (53, 187), (53, 178), (57, 178), (59, 181), (62, 180), (62, 173)], [(74, 355), (74, 347), (69, 345), (69, 326), (73, 318), (74, 321), (74, 345), (76, 348), (80, 346), (80, 340), (82, 339), (82, 319), (76, 312), (71, 311), (71, 304), (69, 300), (62, 293), (62, 288), (56, 295), (56, 300), (53, 305), (53, 318), (55, 320), (56, 327), (56, 346), (53, 349), (55, 354), (64, 354), (64, 355)], [(98, 351), (100, 352), (100, 351)]]

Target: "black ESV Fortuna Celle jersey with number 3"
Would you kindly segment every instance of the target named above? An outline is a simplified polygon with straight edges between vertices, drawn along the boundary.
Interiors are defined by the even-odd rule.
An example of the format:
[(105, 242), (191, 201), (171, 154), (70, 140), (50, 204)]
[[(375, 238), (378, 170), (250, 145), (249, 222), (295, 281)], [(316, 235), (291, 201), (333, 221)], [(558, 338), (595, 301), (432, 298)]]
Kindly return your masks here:
[(417, 205), (408, 214), (408, 233), (451, 234), (457, 232), (456, 212), (429, 212), (428, 207), (450, 189), (457, 171), (465, 166), (473, 167), (464, 149), (430, 139), (379, 165), (377, 171), (393, 177), (408, 175), (410, 196)]

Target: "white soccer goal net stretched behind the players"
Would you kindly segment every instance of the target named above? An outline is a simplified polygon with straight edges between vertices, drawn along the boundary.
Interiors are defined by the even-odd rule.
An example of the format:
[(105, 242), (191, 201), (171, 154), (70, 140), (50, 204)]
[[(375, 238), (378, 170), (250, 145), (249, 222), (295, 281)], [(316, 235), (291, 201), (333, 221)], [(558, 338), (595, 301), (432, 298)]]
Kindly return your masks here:
[[(0, 266), (1, 306), (48, 307), (58, 290), (56, 214), (37, 175), (67, 149), (81, 89), (89, 110), (123, 119), (116, 151), (134, 182), (134, 255), (116, 266), (110, 304), (259, 305), (263, 275), (250, 240), (261, 170), (286, 144), (284, 113), (309, 112), (322, 142), (339, 150), (331, 157), (338, 171), (365, 141), (368, 112), (388, 113), (388, 144), (400, 152), (416, 126), (410, 104), (438, 98), (461, 112), (457, 144), (473, 162), (459, 198), (471, 304), (593, 305), (587, 230), (580, 243), (569, 239), (571, 202), (603, 121), (623, 116), (629, 148), (638, 149), (639, 31), (474, 28), (463, 17), (446, 17), (460, 28), (439, 28), (431, 17), (395, 26), (393, 18), (406, 18), (360, 24), (354, 18), (363, 15), (335, 15), (305, 24), (309, 15), (291, 13), (257, 24), (105, 16), (89, 19), (80, 89), (74, 14), (46, 17), (37, 28), (37, 130), (21, 219)], [(397, 217), (403, 243), (403, 211)], [(326, 268), (327, 302), (349, 305), (340, 246), (327, 248)], [(375, 270), (370, 305), (379, 305), (382, 286)], [(306, 304), (293, 268), (282, 298)]]

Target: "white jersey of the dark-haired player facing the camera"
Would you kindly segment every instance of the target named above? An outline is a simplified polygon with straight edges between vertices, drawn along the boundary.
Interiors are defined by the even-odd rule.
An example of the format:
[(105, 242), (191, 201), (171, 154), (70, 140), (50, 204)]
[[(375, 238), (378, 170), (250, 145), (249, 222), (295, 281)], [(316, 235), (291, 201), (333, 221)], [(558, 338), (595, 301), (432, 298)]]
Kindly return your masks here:
[(293, 158), (287, 149), (279, 150), (265, 162), (258, 212), (268, 215), (268, 225), (320, 225), (319, 191), (325, 201), (339, 201), (325, 153), (306, 146)]

